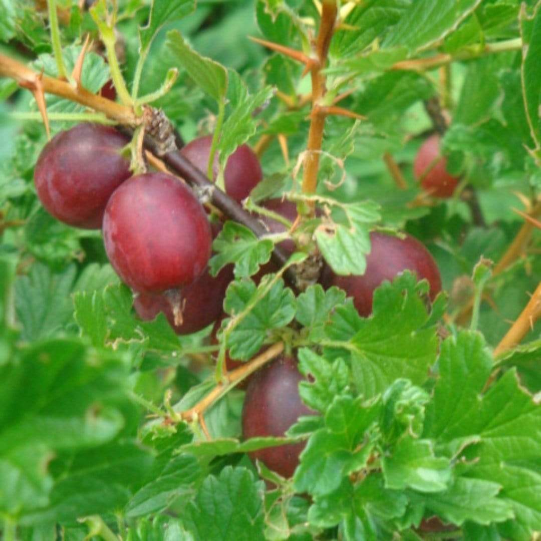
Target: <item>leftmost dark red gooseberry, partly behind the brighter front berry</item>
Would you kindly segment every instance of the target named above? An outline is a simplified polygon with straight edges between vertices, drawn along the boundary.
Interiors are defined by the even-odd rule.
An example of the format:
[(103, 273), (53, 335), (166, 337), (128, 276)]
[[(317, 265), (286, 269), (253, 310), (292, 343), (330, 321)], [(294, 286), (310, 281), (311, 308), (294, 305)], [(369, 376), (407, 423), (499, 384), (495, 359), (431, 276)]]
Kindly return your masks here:
[(109, 197), (131, 176), (120, 154), (127, 137), (110, 126), (78, 124), (55, 135), (34, 170), (39, 200), (70, 226), (99, 229)]

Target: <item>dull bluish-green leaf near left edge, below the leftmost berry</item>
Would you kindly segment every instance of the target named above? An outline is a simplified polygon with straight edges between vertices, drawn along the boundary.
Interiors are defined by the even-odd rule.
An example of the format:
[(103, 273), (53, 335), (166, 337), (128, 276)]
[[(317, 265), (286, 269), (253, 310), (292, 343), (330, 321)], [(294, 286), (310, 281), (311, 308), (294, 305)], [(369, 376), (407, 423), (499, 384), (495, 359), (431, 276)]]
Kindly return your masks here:
[(28, 276), (16, 280), (15, 308), (24, 340), (50, 337), (67, 324), (72, 312), (70, 293), (75, 273), (75, 265), (54, 274), (42, 263), (36, 263)]

